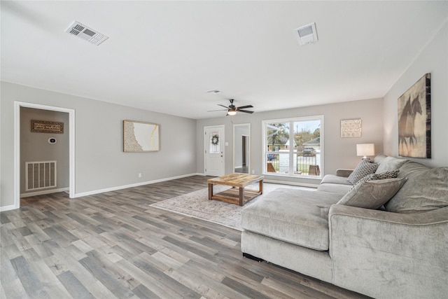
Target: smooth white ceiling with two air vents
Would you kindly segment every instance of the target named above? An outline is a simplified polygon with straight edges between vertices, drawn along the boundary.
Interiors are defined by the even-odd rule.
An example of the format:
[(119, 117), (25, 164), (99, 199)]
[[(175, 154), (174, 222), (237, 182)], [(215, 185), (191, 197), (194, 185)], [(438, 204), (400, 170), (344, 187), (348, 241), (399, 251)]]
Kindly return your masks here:
[[(230, 98), (255, 113), (377, 98), (447, 16), (447, 1), (1, 1), (1, 80), (195, 119)], [(109, 39), (66, 34), (74, 20)], [(300, 46), (311, 22), (319, 41)]]

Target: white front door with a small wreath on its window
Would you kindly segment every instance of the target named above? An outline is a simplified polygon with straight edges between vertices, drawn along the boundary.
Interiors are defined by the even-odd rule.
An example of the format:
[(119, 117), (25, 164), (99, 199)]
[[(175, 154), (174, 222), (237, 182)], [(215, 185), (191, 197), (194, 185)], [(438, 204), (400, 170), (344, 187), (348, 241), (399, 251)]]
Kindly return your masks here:
[(224, 126), (204, 127), (205, 175), (224, 175)]

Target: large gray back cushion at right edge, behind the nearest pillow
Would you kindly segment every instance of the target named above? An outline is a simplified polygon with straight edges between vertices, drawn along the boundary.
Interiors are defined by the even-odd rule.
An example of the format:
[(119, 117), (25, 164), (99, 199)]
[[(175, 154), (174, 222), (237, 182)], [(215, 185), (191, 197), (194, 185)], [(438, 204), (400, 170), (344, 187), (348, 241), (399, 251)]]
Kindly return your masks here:
[(448, 167), (422, 166), (414, 163), (405, 167), (409, 175), (407, 183), (384, 205), (387, 211), (419, 213), (448, 207)]

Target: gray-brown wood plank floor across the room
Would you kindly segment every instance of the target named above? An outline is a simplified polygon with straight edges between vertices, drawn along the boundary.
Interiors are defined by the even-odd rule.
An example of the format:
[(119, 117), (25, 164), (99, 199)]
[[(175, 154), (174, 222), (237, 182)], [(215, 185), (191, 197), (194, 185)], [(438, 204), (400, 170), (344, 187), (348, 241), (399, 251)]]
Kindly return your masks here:
[(0, 299), (363, 298), (243, 258), (237, 230), (149, 207), (207, 179), (22, 199), (0, 213)]

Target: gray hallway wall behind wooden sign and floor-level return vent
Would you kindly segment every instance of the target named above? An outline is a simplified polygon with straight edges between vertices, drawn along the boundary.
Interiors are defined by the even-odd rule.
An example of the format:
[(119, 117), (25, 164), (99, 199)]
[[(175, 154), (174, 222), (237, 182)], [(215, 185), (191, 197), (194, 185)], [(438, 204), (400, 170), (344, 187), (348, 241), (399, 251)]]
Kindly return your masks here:
[[(64, 123), (64, 134), (31, 132), (31, 120)], [(57, 186), (45, 190), (69, 188), (69, 130), (69, 113), (27, 107), (20, 109), (20, 193), (26, 193), (25, 162), (55, 160)], [(57, 142), (48, 143), (50, 137), (55, 137)]]

